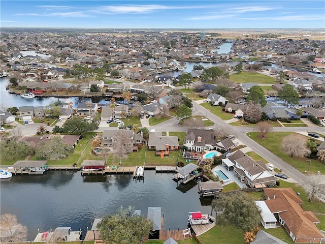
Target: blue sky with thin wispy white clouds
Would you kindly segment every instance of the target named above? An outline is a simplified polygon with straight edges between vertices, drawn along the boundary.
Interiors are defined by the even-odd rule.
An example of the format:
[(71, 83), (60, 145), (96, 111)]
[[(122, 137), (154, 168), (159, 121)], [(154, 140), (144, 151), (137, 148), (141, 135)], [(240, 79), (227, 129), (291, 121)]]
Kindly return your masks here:
[(12, 1), (2, 27), (325, 28), (325, 1)]

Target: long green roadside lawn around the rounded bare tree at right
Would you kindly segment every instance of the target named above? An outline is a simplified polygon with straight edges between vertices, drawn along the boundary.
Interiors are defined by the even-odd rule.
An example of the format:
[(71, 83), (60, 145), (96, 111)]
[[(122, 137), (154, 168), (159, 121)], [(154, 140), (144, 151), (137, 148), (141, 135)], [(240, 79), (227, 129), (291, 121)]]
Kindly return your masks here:
[(293, 132), (269, 132), (268, 137), (264, 139), (258, 138), (258, 133), (259, 132), (249, 132), (247, 133), (247, 136), (270, 150), (271, 153), (280, 157), (283, 161), (297, 168), (302, 173), (304, 173), (305, 170), (308, 170), (309, 163), (306, 162), (306, 160), (311, 160), (310, 172), (316, 174), (317, 171), (320, 171), (321, 174), (325, 174), (325, 167), (322, 163), (308, 158), (291, 158), (281, 150), (282, 139), (293, 134)]

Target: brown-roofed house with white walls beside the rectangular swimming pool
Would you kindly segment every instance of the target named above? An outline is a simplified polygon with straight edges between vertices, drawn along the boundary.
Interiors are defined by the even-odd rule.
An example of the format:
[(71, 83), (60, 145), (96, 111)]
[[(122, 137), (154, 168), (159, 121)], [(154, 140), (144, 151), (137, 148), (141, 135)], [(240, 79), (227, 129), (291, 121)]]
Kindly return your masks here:
[(263, 161), (255, 162), (241, 150), (235, 151), (228, 159), (233, 163), (234, 175), (247, 187), (262, 188), (275, 185), (277, 178), (267, 170)]

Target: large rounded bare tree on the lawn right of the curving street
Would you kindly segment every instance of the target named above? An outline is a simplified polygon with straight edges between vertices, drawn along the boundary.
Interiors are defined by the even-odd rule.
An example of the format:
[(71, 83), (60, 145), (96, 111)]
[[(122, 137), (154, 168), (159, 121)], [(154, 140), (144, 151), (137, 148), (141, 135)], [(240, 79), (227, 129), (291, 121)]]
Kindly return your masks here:
[(291, 158), (303, 158), (310, 154), (310, 149), (307, 147), (307, 139), (298, 134), (289, 135), (283, 138), (281, 149)]

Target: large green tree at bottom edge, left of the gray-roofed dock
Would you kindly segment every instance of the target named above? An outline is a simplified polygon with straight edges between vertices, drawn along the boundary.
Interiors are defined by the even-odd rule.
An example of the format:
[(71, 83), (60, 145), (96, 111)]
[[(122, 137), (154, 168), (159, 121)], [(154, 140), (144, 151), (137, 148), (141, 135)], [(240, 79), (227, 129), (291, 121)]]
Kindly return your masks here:
[(104, 217), (97, 228), (104, 243), (140, 244), (152, 231), (152, 221), (135, 214), (134, 207), (121, 207), (116, 215)]

